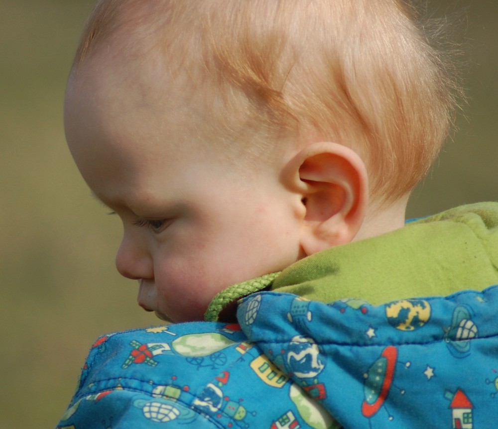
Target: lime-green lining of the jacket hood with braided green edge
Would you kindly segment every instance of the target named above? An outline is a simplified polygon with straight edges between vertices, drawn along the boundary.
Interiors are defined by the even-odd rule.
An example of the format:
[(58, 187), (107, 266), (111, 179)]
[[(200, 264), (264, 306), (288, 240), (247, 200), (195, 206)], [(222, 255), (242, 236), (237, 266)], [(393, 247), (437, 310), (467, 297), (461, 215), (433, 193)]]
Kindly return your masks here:
[(263, 289), (322, 302), (357, 298), (375, 305), (497, 283), (498, 203), (480, 203), (332, 247), (281, 273), (231, 286), (215, 296), (205, 319), (224, 320), (239, 298)]

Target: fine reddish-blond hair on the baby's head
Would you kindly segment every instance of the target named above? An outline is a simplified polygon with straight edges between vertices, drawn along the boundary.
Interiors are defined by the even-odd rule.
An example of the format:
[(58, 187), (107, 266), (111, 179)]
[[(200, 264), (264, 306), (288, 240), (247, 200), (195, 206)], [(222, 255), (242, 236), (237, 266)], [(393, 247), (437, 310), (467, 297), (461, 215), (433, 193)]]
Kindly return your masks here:
[(147, 40), (185, 88), (215, 89), (210, 132), (264, 130), (262, 158), (282, 141), (271, 136), (341, 143), (366, 162), (371, 196), (392, 202), (427, 173), (456, 107), (422, 28), (400, 0), (100, 0), (75, 68), (108, 37), (127, 52)]

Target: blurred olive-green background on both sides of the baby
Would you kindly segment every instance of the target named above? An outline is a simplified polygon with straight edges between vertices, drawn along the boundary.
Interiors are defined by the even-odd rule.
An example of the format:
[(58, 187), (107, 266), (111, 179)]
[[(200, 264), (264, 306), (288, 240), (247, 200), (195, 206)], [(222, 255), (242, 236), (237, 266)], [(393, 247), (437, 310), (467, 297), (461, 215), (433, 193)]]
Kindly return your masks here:
[[(460, 19), (466, 117), (408, 216), (498, 200), (498, 2), (433, 1)], [(114, 256), (121, 226), (64, 142), (62, 100), (90, 0), (0, 0), (0, 428), (51, 428), (102, 333), (159, 324)]]

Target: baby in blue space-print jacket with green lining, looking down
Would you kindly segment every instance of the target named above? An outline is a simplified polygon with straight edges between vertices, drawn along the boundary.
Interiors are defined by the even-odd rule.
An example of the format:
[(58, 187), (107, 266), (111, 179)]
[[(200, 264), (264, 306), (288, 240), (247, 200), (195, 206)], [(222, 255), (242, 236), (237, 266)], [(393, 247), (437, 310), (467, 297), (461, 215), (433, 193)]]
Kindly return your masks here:
[[(406, 380), (396, 376), (406, 392), (420, 374), (428, 383), (438, 359), (453, 357), (448, 344), (462, 340), (452, 323), (497, 306), (493, 288), (466, 298), (490, 306), (479, 310), (461, 296), (407, 299), (498, 282), (496, 204), (403, 227), (456, 105), (450, 67), (423, 28), (397, 0), (98, 2), (64, 121), (83, 178), (123, 221), (118, 270), (138, 280), (139, 305), (161, 319), (240, 327), (103, 337), (61, 428), (451, 421), (441, 404), (446, 412), (467, 398), (451, 376), (440, 377), (437, 401), (417, 388), (387, 403), (398, 362), (416, 361)], [(439, 311), (449, 318), (433, 328), (439, 342), (414, 337)], [(414, 342), (436, 343), (438, 359), (412, 349), (400, 358)], [(427, 415), (407, 402), (423, 402)], [(476, 421), (496, 412), (488, 402)], [(454, 419), (472, 420), (467, 408)]]

